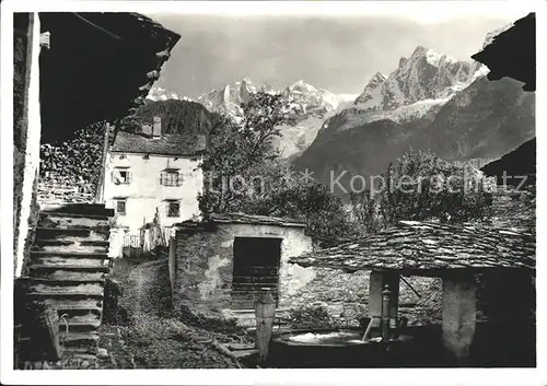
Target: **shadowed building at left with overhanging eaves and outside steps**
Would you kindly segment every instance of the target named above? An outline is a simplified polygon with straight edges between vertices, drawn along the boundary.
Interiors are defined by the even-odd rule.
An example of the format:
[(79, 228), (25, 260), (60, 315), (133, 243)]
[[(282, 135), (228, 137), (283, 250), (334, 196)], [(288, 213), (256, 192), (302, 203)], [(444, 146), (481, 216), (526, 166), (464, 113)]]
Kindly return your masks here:
[(101, 197), (38, 203), (40, 143), (101, 125), (104, 160), (179, 38), (138, 13), (14, 14), (14, 369), (90, 366), (110, 267)]

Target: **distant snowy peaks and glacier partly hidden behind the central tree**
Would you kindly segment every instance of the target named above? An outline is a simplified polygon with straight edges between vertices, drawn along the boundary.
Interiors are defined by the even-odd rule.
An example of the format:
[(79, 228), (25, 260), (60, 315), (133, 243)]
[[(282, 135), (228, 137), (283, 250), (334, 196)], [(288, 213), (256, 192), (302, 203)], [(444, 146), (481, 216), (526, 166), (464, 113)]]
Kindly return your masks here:
[(268, 94), (279, 94), (288, 103), (301, 112), (296, 117), (294, 126), (283, 125), (280, 127), (281, 137), (276, 139), (276, 145), (281, 156), (294, 156), (302, 152), (315, 139), (323, 121), (336, 114), (341, 106), (351, 103), (356, 95), (334, 94), (325, 89), (315, 87), (312, 84), (299, 80), (286, 87), (276, 89), (270, 84), (257, 87), (248, 78), (231, 82), (222, 87), (213, 89), (201, 95), (198, 102), (210, 112), (228, 114), (235, 120), (243, 117), (241, 105), (248, 102), (252, 94), (257, 91)]

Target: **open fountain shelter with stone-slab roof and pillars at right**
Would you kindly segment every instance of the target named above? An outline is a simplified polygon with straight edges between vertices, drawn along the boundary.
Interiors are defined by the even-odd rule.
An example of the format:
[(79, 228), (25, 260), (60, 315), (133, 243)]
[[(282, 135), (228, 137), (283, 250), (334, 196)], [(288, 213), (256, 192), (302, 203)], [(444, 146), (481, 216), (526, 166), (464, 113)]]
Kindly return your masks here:
[[(389, 317), (397, 320), (401, 277), (441, 278), (441, 330), (432, 341), (423, 342), (424, 352), (438, 352), (464, 365), (535, 365), (536, 257), (532, 234), (400, 221), (376, 234), (301, 254), (290, 261), (346, 272), (371, 271), (371, 318), (381, 315), (385, 285), (391, 290)], [(477, 323), (479, 311), (485, 316), (481, 323)], [(379, 323), (373, 326), (377, 328)]]

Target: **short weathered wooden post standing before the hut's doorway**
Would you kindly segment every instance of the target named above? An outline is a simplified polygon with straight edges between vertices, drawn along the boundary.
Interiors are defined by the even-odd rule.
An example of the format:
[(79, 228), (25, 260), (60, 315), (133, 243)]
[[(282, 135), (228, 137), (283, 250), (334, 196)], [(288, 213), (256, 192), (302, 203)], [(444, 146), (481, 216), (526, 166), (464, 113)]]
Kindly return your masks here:
[(259, 353), (261, 364), (266, 362), (268, 356), (268, 347), (271, 339), (271, 330), (274, 327), (274, 317), (276, 316), (276, 300), (271, 296), (269, 289), (261, 289), (255, 305), (256, 316), (256, 348)]

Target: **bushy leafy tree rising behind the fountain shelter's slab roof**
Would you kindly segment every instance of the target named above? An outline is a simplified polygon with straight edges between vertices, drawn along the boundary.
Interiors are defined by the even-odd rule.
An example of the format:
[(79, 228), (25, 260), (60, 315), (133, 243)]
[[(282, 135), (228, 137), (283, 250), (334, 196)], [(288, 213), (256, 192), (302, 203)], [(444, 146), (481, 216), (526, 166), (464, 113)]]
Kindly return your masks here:
[(409, 152), (389, 164), (382, 187), (375, 188), (379, 192), (373, 197), (360, 198), (361, 208), (353, 207), (354, 217), (369, 231), (399, 220), (482, 219), (490, 214), (492, 203), (489, 182), (477, 167), (423, 151)]

